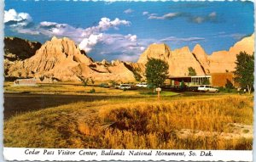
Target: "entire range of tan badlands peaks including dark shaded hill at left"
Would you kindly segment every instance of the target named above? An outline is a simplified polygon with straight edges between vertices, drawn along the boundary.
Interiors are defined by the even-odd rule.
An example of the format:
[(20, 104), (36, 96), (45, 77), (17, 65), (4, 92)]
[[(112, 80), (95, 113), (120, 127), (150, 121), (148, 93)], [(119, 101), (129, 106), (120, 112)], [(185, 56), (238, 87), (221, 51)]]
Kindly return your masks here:
[[(188, 75), (189, 67), (194, 68), (197, 75), (209, 75), (234, 71), (236, 54), (241, 51), (249, 54), (254, 52), (253, 34), (236, 42), (229, 51), (218, 51), (210, 55), (200, 44), (195, 45), (192, 52), (189, 47), (172, 51), (166, 44), (151, 44), (137, 63), (119, 60), (108, 62), (105, 59), (94, 62), (67, 37), (62, 39), (53, 37), (43, 46), (36, 42), (25, 41), (25, 44), (29, 45), (26, 47), (28, 49), (22, 47), (13, 49), (9, 46), (12, 43), (11, 39), (14, 41), (16, 38), (6, 38), (10, 41), (5, 48), (5, 76), (36, 77), (42, 81), (79, 81), (83, 78), (91, 78), (95, 81), (134, 81), (134, 71), (143, 76), (145, 64), (150, 58), (165, 60), (169, 64), (171, 76)], [(22, 53), (23, 51), (26, 53)], [(7, 57), (9, 53), (15, 53), (15, 60), (9, 60), (10, 57)]]

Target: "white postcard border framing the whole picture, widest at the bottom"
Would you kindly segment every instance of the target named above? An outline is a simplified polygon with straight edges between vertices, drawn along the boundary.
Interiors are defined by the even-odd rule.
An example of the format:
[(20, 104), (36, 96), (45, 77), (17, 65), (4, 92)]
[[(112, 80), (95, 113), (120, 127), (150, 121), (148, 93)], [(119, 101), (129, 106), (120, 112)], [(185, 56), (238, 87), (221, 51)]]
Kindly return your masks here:
[[(113, 3), (113, 0), (107, 0), (110, 3)], [(119, 1), (119, 0), (117, 0)], [(120, 0), (120, 1), (126, 1), (126, 0)], [(136, 0), (135, 0), (136, 1)], [(145, 0), (148, 1), (148, 0)], [(150, 0), (149, 0), (150, 1)], [(153, 0), (155, 1), (155, 0)], [(156, 0), (158, 1), (158, 0)], [(178, 2), (178, 0), (176, 0)], [(196, 0), (195, 0), (196, 1)], [(213, 1), (218, 1), (218, 0), (213, 0)], [(245, 1), (245, 0), (242, 0)], [(254, 26), (256, 26), (256, 18), (255, 18), (255, 1), (254, 0), (248, 0), (250, 2), (254, 3)], [(1, 53), (3, 53), (3, 10), (4, 10), (4, 1), (0, 0), (0, 51)], [(254, 45), (254, 47), (256, 48), (256, 45)], [(0, 60), (2, 61), (2, 67), (3, 67), (3, 56), (0, 57)], [(254, 65), (255, 66), (255, 65)], [(255, 68), (255, 67), (254, 67)], [(1, 69), (1, 73), (3, 74), (3, 69)], [(256, 71), (254, 71), (254, 75), (256, 74)], [(80, 156), (67, 156), (67, 155), (57, 155), (57, 156), (52, 156), (52, 155), (44, 155), (42, 153), (44, 153), (44, 149), (47, 149), (48, 151), (56, 151), (56, 153), (58, 152), (58, 150), (70, 150), (70, 151), (74, 151), (77, 154), (79, 154), (79, 151), (84, 150), (84, 151), (96, 151), (98, 154), (102, 153), (102, 150), (105, 151), (110, 151), (110, 150), (114, 150), (114, 151), (118, 151), (118, 150), (123, 150), (125, 151), (126, 154), (129, 154), (129, 151), (135, 150), (135, 151), (139, 151), (140, 149), (67, 149), (67, 148), (3, 148), (3, 75), (0, 76), (0, 85), (2, 86), (2, 88), (0, 88), (0, 104), (2, 105), (0, 107), (1, 113), (0, 113), (0, 138), (2, 139), (2, 142), (0, 142), (0, 152), (2, 153), (0, 155), (0, 161), (13, 161), (13, 160), (29, 160), (29, 161), (34, 161), (34, 160), (39, 160), (39, 161), (44, 161), (44, 160), (48, 160), (48, 161), (52, 161), (52, 160), (56, 160), (56, 161), (67, 161), (67, 160), (72, 160), (72, 161), (90, 161), (90, 160), (96, 160), (96, 161), (100, 161), (100, 160), (166, 160), (166, 161), (171, 161), (171, 160), (175, 160), (175, 161), (179, 161), (179, 160), (184, 160), (184, 161), (253, 161), (253, 157), (256, 157), (256, 155), (254, 155), (255, 153), (253, 152), (253, 150), (156, 150), (156, 149), (144, 149), (142, 151), (152, 151), (152, 152), (156, 152), (156, 151), (165, 151), (165, 152), (185, 152), (185, 154), (188, 154), (185, 157), (175, 157), (175, 156), (150, 156), (151, 158), (147, 158), (145, 156), (129, 156), (129, 155), (125, 155), (123, 157), (119, 157), (119, 156), (102, 156), (102, 155), (98, 155), (98, 156), (85, 156), (85, 155), (80, 155)], [(254, 87), (256, 87), (256, 82), (254, 81)], [(255, 94), (255, 93), (254, 93)], [(256, 98), (254, 98), (254, 103), (256, 102)], [(255, 105), (254, 105), (255, 107)], [(254, 111), (253, 113), (253, 129), (255, 130), (256, 126), (256, 120), (255, 120), (255, 115), (256, 115), (256, 111)], [(256, 133), (255, 131), (253, 131), (253, 137), (255, 137)], [(253, 138), (253, 149), (256, 148), (255, 145), (256, 139)], [(29, 149), (29, 150), (38, 150), (40, 152), (42, 152), (41, 154), (35, 155), (35, 154), (25, 154), (25, 151)], [(189, 152), (192, 151), (195, 154), (200, 154), (201, 151), (211, 151), (212, 156), (189, 156)]]

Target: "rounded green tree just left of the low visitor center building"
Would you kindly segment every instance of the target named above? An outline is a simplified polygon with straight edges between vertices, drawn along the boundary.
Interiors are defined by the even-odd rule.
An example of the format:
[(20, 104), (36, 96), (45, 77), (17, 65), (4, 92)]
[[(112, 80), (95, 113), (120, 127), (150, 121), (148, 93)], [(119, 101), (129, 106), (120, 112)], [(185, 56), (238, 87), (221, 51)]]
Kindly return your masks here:
[(161, 59), (148, 59), (146, 78), (149, 85), (161, 87), (168, 77), (169, 65)]

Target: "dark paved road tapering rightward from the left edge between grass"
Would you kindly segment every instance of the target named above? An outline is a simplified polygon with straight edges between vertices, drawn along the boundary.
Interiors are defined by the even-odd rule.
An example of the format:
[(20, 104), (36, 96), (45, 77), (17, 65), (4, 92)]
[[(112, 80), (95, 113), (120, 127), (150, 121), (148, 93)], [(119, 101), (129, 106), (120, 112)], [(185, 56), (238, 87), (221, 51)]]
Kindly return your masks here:
[(110, 98), (125, 98), (122, 96), (90, 96), (90, 95), (60, 95), (60, 94), (24, 94), (4, 93), (4, 120), (13, 115), (27, 111), (46, 109), (79, 101), (92, 102)]

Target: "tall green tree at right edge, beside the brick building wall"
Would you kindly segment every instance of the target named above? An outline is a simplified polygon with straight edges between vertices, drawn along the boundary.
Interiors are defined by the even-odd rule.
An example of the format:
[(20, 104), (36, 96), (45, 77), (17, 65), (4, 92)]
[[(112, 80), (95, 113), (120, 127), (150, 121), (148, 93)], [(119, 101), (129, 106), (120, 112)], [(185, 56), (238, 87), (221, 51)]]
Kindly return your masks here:
[(254, 56), (246, 52), (240, 52), (236, 55), (235, 81), (241, 87), (247, 87), (249, 94), (252, 92), (254, 80)]

